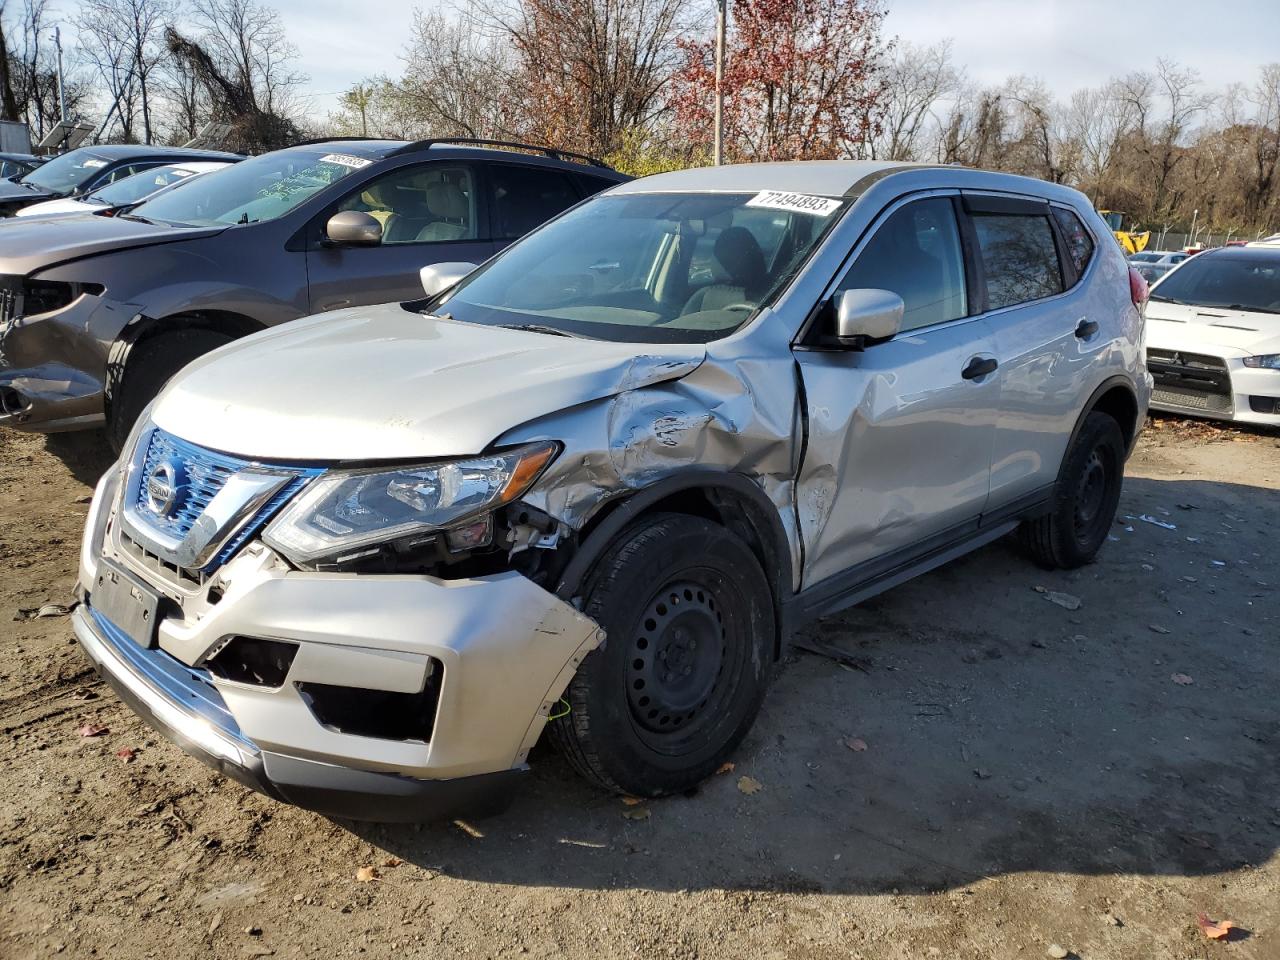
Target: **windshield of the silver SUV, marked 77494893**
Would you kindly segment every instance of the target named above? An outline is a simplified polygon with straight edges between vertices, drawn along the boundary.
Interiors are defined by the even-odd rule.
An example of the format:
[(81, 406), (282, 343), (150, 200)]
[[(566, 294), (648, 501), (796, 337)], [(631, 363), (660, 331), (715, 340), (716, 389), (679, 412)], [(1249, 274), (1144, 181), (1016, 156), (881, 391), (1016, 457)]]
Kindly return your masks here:
[(845, 206), (768, 191), (598, 197), (430, 306), (494, 326), (707, 343), (780, 293)]

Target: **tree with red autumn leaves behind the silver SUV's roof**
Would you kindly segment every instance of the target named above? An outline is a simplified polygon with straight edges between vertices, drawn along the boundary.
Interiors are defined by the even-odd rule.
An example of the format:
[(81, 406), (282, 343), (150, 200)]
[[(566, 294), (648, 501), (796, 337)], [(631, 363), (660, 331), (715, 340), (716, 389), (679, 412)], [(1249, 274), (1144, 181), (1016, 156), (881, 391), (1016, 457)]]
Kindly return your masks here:
[[(860, 156), (878, 132), (887, 44), (881, 0), (732, 0), (724, 152), (735, 160)], [(714, 36), (681, 42), (676, 132), (710, 142)]]

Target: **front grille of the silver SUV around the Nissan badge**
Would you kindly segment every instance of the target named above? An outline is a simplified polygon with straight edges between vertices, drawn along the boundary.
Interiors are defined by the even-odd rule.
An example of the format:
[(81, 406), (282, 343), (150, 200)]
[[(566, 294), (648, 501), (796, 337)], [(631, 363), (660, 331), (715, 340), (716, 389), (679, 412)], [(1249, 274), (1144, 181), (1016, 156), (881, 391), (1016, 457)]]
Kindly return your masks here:
[[(184, 588), (201, 586), (218, 567), (229, 561), (244, 543), (292, 499), (306, 484), (319, 476), (317, 467), (262, 463), (219, 453), (197, 447), (160, 429), (151, 430), (143, 440), (141, 454), (134, 454), (136, 480), (125, 492), (125, 507), (129, 521), (138, 526), (136, 536), (131, 536), (128, 526), (120, 531), (120, 543), (136, 559), (147, 568)], [(173, 484), (178, 493), (168, 509), (152, 508), (147, 477), (161, 466), (172, 470)], [(275, 474), (285, 474), (288, 481), (275, 495), (250, 517), (223, 544), (214, 558), (200, 570), (189, 570), (166, 556), (165, 544), (178, 544), (191, 532), (196, 522), (205, 516), (209, 504), (236, 474), (251, 468), (269, 468)], [(156, 543), (145, 543), (151, 535)], [(141, 540), (140, 540), (141, 536)]]

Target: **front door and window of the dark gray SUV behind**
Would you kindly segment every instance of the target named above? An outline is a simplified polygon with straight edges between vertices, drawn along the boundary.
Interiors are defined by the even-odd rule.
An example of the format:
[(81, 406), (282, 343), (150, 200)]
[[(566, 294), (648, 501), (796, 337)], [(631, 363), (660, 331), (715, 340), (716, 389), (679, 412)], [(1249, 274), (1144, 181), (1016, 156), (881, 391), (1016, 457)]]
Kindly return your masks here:
[[(342, 210), (381, 223), (381, 243), (330, 244), (325, 224)], [(424, 266), (483, 264), (494, 251), (476, 165), (435, 160), (374, 177), (312, 220), (306, 250), (312, 314), (419, 298)]]

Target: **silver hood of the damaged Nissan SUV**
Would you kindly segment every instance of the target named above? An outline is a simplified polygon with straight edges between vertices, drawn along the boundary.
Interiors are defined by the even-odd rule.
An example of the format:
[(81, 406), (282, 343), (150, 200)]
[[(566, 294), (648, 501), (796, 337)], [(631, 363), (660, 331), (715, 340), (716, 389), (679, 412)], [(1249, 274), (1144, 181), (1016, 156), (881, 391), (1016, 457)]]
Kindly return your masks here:
[(529, 420), (685, 376), (700, 344), (572, 339), (355, 307), (230, 343), (182, 371), (152, 420), (251, 460), (480, 453)]

